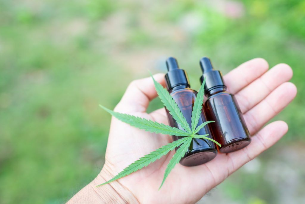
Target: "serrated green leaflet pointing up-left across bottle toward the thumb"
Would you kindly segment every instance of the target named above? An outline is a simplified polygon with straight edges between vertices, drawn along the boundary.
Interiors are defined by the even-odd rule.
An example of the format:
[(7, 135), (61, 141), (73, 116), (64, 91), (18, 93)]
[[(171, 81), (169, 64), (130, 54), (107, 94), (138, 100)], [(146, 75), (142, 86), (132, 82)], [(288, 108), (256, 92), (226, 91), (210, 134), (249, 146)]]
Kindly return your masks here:
[(177, 121), (177, 123), (180, 124), (181, 127), (186, 132), (191, 134), (192, 130), (191, 130), (188, 122), (186, 121), (185, 117), (181, 113), (175, 100), (171, 97), (171, 95), (168, 93), (168, 91), (165, 88), (163, 88), (163, 86), (160, 83), (156, 82), (156, 80), (153, 78), (153, 76), (152, 76), (152, 80), (155, 84), (155, 88), (158, 93), (158, 96), (161, 99), (164, 106), (166, 107), (166, 109), (173, 116), (173, 118)]

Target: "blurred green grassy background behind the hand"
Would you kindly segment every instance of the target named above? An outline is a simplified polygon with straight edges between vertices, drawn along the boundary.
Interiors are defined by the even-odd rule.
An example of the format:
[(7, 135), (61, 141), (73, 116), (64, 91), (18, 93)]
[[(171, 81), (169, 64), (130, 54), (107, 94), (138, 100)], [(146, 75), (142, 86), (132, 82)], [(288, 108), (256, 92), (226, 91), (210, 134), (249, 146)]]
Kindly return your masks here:
[[(235, 203), (280, 203), (281, 189), (264, 180), (269, 162), (305, 175), (297, 154), (304, 50), (303, 1), (0, 0), (0, 203), (60, 203), (91, 181), (110, 124), (98, 104), (113, 108), (131, 80), (165, 72), (168, 56), (195, 89), (202, 56), (223, 73), (254, 57), (292, 67), (298, 94), (276, 117), (289, 132), (260, 156), (257, 172), (241, 170), (219, 186)], [(149, 110), (157, 107), (154, 100)], [(288, 150), (299, 156), (278, 154)], [(297, 201), (305, 186), (295, 186), (287, 196)]]

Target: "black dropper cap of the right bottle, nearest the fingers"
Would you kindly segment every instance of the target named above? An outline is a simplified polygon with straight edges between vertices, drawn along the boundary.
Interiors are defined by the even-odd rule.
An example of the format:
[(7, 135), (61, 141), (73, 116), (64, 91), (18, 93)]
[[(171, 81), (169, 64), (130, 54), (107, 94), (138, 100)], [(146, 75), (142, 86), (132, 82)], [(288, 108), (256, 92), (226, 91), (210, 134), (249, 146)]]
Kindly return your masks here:
[(213, 65), (208, 57), (202, 57), (199, 64), (203, 73), (200, 77), (201, 83), (206, 77), (206, 83), (204, 84), (205, 93), (208, 93), (215, 88), (227, 88), (222, 80), (221, 72), (213, 68)]

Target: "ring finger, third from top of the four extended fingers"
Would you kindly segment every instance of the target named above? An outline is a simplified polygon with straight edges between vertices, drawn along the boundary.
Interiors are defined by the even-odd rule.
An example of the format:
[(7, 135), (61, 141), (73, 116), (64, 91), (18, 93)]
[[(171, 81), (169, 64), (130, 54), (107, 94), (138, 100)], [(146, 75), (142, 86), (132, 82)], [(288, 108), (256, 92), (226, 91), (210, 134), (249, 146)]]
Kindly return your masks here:
[(246, 112), (244, 119), (250, 134), (257, 132), (267, 121), (285, 108), (295, 96), (296, 86), (291, 82), (285, 82)]

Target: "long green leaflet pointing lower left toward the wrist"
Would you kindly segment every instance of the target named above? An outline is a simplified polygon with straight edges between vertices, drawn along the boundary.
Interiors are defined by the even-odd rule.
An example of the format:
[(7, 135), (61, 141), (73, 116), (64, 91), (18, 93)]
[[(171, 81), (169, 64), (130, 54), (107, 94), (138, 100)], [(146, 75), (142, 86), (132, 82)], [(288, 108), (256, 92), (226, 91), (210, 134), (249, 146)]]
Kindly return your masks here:
[(159, 149), (156, 149), (155, 151), (153, 151), (149, 154), (146, 154), (144, 157), (139, 158), (137, 161), (133, 162), (131, 165), (126, 167), (117, 176), (114, 176), (109, 181), (107, 181), (103, 184), (100, 184), (98, 186), (108, 184), (114, 180), (127, 176), (128, 174), (131, 174), (132, 172), (142, 169), (143, 167), (149, 165), (150, 163), (156, 161), (157, 159), (160, 159), (163, 155), (167, 154), (168, 152), (174, 150), (174, 148), (179, 147), (182, 143), (184, 143), (185, 141), (188, 141), (189, 138), (191, 138), (191, 137), (184, 137), (184, 138), (178, 139), (172, 143), (168, 143), (168, 144), (162, 146)]

